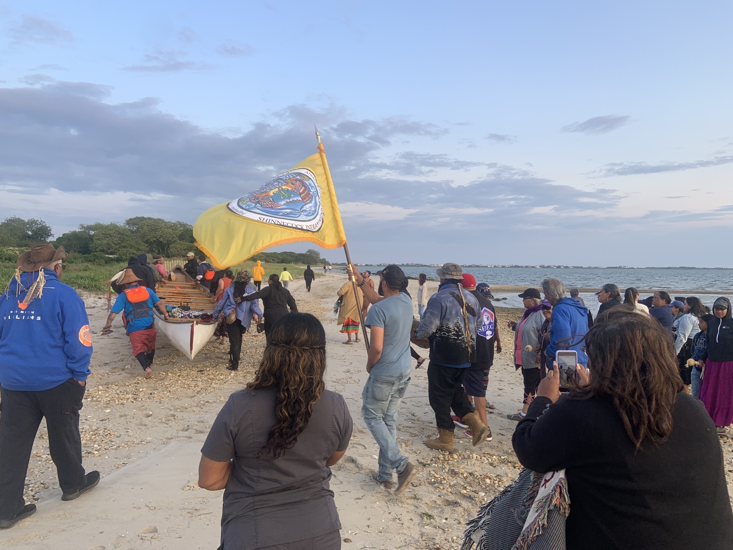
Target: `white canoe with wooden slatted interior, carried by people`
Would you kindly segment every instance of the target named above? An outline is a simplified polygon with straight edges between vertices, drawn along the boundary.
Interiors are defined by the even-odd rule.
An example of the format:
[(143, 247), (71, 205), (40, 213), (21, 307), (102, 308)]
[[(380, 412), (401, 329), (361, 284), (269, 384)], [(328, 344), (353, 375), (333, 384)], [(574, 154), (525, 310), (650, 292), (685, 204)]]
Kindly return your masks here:
[[(180, 266), (176, 266), (180, 269)], [(183, 272), (183, 273), (181, 273)], [(185, 274), (183, 269), (174, 273), (174, 281), (160, 281), (155, 287), (155, 293), (163, 304), (172, 306), (188, 306), (197, 311), (213, 312), (216, 302), (211, 294)], [(182, 276), (183, 275), (183, 276)], [(194, 359), (216, 331), (216, 319), (202, 321), (198, 319), (163, 319), (155, 309), (155, 329), (166, 335), (174, 348), (180, 350), (188, 359)]]

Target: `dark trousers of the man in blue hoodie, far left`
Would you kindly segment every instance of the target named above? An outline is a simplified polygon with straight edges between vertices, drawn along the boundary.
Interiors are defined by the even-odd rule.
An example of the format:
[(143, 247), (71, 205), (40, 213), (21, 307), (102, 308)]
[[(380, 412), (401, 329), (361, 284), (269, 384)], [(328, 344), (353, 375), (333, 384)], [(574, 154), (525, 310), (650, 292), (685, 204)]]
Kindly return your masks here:
[(0, 519), (12, 518), (25, 505), (23, 487), (43, 417), (62, 491), (74, 493), (86, 483), (79, 435), (84, 391), (73, 378), (43, 392), (0, 388)]

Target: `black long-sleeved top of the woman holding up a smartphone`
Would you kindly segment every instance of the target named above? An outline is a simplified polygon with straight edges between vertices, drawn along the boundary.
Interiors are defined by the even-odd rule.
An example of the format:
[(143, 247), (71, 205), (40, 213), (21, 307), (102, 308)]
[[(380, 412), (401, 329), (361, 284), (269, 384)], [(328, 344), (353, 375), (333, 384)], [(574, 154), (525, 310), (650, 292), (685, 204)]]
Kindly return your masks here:
[(567, 550), (733, 548), (723, 452), (701, 401), (680, 392), (667, 441), (638, 452), (610, 400), (550, 403), (534, 398), (512, 444), (528, 469), (565, 469)]

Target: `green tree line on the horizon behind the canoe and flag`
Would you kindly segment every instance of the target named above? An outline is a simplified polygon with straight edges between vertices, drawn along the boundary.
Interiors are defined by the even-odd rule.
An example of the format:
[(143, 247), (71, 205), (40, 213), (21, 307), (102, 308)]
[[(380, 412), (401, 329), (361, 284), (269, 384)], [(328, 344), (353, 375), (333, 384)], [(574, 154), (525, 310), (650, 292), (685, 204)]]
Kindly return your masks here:
[[(122, 224), (81, 224), (78, 230), (67, 231), (55, 241), (51, 241), (53, 236), (54, 230), (43, 220), (24, 220), (18, 216), (6, 218), (0, 222), (0, 247), (5, 248), (0, 251), (0, 261), (15, 261), (18, 249), (48, 242), (63, 246), (67, 254), (85, 257), (75, 258), (82, 261), (104, 261), (105, 258), (127, 260), (137, 254), (160, 254), (164, 257), (183, 257), (188, 252), (194, 252), (197, 256), (202, 254), (194, 246), (194, 228), (191, 224), (146, 216), (129, 218)], [(317, 250), (304, 253), (261, 252), (251, 260), (312, 265), (328, 263)]]

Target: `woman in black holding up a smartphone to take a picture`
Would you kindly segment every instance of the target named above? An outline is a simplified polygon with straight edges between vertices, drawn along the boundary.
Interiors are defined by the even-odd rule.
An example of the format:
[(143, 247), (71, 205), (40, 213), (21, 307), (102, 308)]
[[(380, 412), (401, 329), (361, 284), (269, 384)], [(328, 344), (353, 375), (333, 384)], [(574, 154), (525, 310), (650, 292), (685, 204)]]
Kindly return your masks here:
[(667, 331), (614, 308), (585, 345), (581, 389), (560, 397), (548, 371), (512, 438), (526, 468), (565, 470), (567, 550), (733, 548), (721, 444)]

